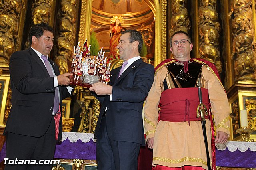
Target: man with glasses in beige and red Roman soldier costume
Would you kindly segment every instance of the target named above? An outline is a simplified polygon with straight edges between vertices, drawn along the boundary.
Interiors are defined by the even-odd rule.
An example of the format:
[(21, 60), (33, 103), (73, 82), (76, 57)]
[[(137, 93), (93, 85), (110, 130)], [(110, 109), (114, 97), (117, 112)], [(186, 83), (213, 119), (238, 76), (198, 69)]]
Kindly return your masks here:
[(212, 63), (190, 57), (193, 45), (186, 32), (175, 32), (170, 46), (174, 59), (166, 59), (155, 68), (154, 83), (144, 107), (146, 140), (148, 147), (153, 148), (153, 169), (207, 169), (201, 117), (197, 118), (198, 79), (202, 84), (202, 103), (207, 108), (204, 116), (210, 165), (215, 169), (215, 143), (227, 142), (230, 133), (226, 91)]

